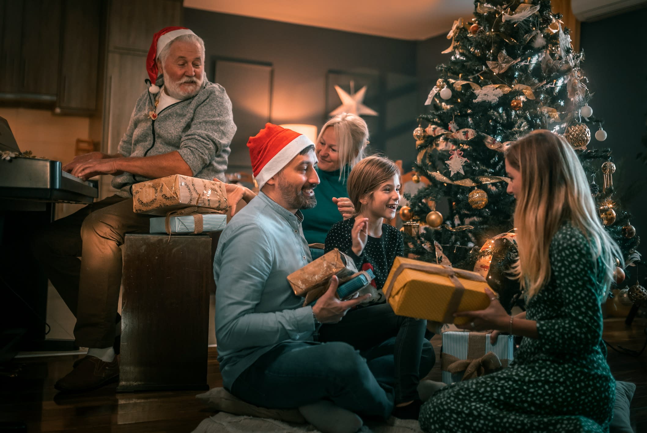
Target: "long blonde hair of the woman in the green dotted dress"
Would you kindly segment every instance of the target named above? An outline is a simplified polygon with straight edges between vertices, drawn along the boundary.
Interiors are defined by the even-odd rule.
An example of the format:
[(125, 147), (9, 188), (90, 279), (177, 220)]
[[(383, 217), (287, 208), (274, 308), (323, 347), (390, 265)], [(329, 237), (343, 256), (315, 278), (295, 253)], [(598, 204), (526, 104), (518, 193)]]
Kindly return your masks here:
[(551, 241), (562, 223), (570, 221), (591, 243), (591, 259), (602, 259), (606, 290), (615, 271), (614, 257), (622, 261), (622, 252), (602, 226), (573, 148), (563, 137), (538, 129), (514, 142), (505, 159), (521, 173), (514, 210), (519, 258), (512, 266), (521, 289), (532, 297), (549, 282)]

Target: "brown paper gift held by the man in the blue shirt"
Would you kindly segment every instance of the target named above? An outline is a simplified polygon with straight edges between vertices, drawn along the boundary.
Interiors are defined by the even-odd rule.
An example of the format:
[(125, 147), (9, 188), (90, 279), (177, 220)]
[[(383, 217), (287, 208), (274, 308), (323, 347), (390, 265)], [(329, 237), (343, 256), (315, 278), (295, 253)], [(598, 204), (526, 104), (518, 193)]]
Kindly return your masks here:
[(337, 276), (341, 285), (353, 278), (356, 272), (353, 259), (334, 249), (292, 272), (287, 276), (287, 280), (294, 294), (305, 296), (304, 304), (307, 305), (325, 293), (333, 275)]

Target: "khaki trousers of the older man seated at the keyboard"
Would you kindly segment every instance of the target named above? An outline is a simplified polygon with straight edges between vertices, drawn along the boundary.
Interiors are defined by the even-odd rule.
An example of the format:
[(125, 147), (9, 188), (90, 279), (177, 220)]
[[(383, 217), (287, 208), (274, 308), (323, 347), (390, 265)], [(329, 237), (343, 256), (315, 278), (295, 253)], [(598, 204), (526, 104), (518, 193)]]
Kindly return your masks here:
[(122, 277), (120, 245), (126, 233), (148, 233), (150, 218), (133, 212), (133, 199), (113, 195), (34, 234), (34, 256), (76, 316), (78, 346), (113, 345)]

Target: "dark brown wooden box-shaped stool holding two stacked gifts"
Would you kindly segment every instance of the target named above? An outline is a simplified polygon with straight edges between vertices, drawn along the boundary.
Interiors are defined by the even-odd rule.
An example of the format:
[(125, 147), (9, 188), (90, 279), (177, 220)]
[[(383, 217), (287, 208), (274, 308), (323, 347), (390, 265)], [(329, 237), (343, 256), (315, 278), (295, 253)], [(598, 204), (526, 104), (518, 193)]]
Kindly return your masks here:
[(117, 391), (208, 390), (212, 239), (126, 234)]

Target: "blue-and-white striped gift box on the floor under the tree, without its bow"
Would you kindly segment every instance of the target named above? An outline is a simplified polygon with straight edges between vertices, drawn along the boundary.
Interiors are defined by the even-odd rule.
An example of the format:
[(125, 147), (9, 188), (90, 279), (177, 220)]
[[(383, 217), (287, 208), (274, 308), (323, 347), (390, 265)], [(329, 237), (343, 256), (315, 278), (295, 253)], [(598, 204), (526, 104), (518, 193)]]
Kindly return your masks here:
[[(470, 335), (472, 335), (471, 342)], [(475, 342), (477, 344), (474, 344)], [(470, 344), (474, 346), (470, 347)], [(496, 344), (492, 346), (490, 344), (490, 334), (465, 331), (443, 332), (443, 348), (441, 350), (441, 377), (443, 383), (452, 384), (454, 382), (460, 382), (463, 379), (463, 372), (452, 374), (445, 370), (453, 358), (477, 359), (488, 352), (493, 352), (499, 357), (503, 367), (506, 367), (512, 361), (513, 350), (514, 335), (499, 334)], [(452, 359), (446, 355), (450, 355)]]

